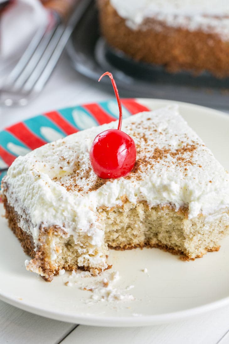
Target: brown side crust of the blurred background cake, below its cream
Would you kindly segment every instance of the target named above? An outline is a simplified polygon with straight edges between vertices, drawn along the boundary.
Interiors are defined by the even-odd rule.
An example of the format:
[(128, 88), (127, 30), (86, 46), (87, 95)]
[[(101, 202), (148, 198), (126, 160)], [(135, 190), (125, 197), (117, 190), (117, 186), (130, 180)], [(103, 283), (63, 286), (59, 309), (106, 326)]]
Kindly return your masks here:
[(229, 43), (214, 33), (188, 31), (148, 18), (142, 28), (131, 30), (109, 0), (98, 0), (100, 27), (108, 44), (134, 60), (163, 65), (170, 72), (209, 71), (229, 76)]

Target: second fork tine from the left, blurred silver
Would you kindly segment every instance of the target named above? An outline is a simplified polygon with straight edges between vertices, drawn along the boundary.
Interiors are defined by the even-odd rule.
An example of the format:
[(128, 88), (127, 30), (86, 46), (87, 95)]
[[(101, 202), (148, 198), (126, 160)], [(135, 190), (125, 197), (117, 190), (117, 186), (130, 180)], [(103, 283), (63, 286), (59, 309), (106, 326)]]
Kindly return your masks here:
[(39, 63), (39, 60), (41, 59), (44, 51), (46, 50), (49, 42), (51, 41), (53, 35), (55, 34), (55, 31), (58, 27), (58, 23), (56, 23), (50, 31), (45, 33), (37, 45), (35, 51), (33, 52), (30, 60), (28, 61), (27, 65), (25, 66), (24, 70), (21, 72), (21, 74), (16, 79), (13, 88), (19, 89), (23, 86), (23, 84), (26, 82), (28, 77), (31, 75), (31, 73), (36, 68), (37, 64)]

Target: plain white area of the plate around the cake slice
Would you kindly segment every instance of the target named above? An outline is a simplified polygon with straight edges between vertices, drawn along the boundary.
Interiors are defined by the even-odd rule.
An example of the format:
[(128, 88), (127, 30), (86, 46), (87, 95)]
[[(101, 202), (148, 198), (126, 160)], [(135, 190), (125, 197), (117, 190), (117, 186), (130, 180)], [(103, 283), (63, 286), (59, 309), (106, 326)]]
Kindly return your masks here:
[[(152, 109), (173, 103), (140, 100)], [(229, 116), (186, 103), (180, 112), (229, 170)], [(209, 171), (210, 173), (210, 171)], [(0, 205), (3, 214), (3, 207)], [(93, 301), (90, 291), (67, 287), (67, 273), (45, 282), (25, 270), (19, 241), (0, 218), (0, 299), (49, 318), (86, 325), (141, 326), (170, 322), (229, 304), (229, 238), (218, 252), (184, 262), (159, 249), (110, 251), (112, 270), (121, 278), (116, 288), (134, 285), (133, 301)], [(148, 274), (142, 270), (147, 268)]]

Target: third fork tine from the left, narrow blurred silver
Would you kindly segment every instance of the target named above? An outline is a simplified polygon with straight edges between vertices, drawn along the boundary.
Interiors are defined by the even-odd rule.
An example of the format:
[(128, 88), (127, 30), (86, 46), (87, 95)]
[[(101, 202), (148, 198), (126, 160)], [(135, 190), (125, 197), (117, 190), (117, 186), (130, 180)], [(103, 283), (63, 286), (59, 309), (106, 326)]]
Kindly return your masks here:
[(30, 90), (32, 90), (34, 84), (36, 83), (36, 81), (38, 80), (38, 78), (40, 77), (42, 72), (44, 71), (48, 61), (50, 60), (51, 55), (55, 51), (56, 46), (58, 45), (59, 40), (60, 40), (62, 34), (64, 33), (65, 29), (66, 28), (63, 25), (60, 25), (57, 28), (57, 30), (55, 31), (54, 35), (52, 36), (50, 42), (48, 43), (41, 59), (39, 60), (38, 64), (36, 65), (36, 68), (31, 73), (30, 77), (26, 80), (26, 83), (23, 86), (23, 91), (29, 92)]

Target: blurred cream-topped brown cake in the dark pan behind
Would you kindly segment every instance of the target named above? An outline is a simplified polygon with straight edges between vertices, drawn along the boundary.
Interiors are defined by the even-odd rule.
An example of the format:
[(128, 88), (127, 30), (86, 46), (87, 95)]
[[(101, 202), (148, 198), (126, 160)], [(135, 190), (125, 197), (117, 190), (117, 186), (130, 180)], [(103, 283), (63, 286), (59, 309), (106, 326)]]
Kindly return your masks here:
[(98, 0), (108, 44), (170, 72), (229, 76), (228, 0)]

